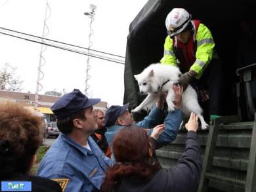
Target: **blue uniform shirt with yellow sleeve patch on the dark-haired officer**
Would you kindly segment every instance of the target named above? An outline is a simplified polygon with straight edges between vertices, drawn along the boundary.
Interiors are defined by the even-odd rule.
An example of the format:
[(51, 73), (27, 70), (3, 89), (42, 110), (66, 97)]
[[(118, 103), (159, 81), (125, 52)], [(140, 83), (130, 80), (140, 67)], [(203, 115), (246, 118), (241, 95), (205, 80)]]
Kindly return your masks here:
[(114, 161), (98, 148), (91, 136), (90, 150), (60, 134), (43, 157), (38, 176), (56, 180), (65, 191), (99, 191), (105, 172)]

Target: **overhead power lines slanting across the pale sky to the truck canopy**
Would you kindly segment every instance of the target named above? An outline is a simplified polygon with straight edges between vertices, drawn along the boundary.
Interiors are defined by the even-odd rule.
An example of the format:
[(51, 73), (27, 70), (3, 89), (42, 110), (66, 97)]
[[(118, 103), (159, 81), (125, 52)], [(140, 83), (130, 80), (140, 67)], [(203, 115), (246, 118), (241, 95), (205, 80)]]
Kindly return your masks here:
[[(9, 30), (9, 29), (5, 29), (3, 27), (0, 27), (0, 29), (3, 29), (5, 31), (13, 31), (13, 30)], [(13, 31), (14, 33), (18, 33), (16, 31)], [(11, 37), (16, 37), (18, 39), (23, 39), (23, 40), (28, 40), (30, 42), (36, 42), (36, 43), (39, 43), (39, 44), (45, 44), (47, 46), (52, 46), (54, 48), (59, 48), (61, 50), (67, 50), (69, 52), (74, 52), (74, 53), (77, 53), (77, 54), (82, 54), (82, 55), (85, 55), (85, 56), (91, 56), (91, 57), (95, 57), (95, 58), (98, 58), (98, 59), (103, 59), (103, 60), (106, 60), (106, 61), (111, 61), (111, 62), (114, 62), (114, 63), (120, 63), (120, 64), (125, 64), (124, 60), (121, 60), (121, 59), (116, 59), (116, 58), (112, 58), (112, 57), (107, 57), (107, 56), (102, 56), (102, 55), (98, 55), (98, 54), (93, 54), (93, 53), (90, 53), (88, 54), (87, 52), (83, 52), (83, 51), (79, 51), (79, 50), (75, 50), (74, 48), (68, 48), (67, 46), (65, 45), (68, 45), (68, 46), (71, 46), (71, 47), (75, 47), (75, 48), (81, 48), (83, 50), (88, 50), (87, 48), (83, 48), (81, 46), (75, 46), (75, 45), (72, 45), (72, 44), (67, 44), (67, 43), (64, 43), (64, 42), (59, 42), (59, 41), (56, 41), (56, 40), (50, 40), (50, 39), (45, 39), (45, 38), (41, 38), (41, 37), (36, 37), (34, 35), (31, 35), (32, 37), (34, 38), (37, 38), (37, 39), (40, 39), (40, 40), (47, 40), (49, 41), (49, 43), (47, 42), (42, 42), (42, 41), (39, 41), (39, 40), (33, 40), (33, 39), (28, 39), (26, 37), (19, 37), (18, 35), (12, 35), (12, 34), (9, 34), (9, 33), (6, 33), (6, 32), (2, 32), (0, 31), (1, 34), (3, 35), (8, 35), (8, 36), (11, 36)], [(26, 33), (20, 33), (20, 34), (24, 34), (26, 35)], [(30, 35), (27, 35), (30, 37)], [(59, 43), (60, 45), (56, 45), (54, 44), (54, 42), (56, 43)], [(93, 50), (94, 52), (99, 52), (97, 50)], [(104, 53), (104, 52), (101, 52), (101, 53)], [(109, 55), (108, 53), (106, 53), (107, 55)], [(112, 54), (114, 55), (114, 54)], [(119, 57), (119, 56), (118, 56)], [(121, 57), (121, 56), (120, 56)], [(124, 57), (125, 58), (125, 57)]]

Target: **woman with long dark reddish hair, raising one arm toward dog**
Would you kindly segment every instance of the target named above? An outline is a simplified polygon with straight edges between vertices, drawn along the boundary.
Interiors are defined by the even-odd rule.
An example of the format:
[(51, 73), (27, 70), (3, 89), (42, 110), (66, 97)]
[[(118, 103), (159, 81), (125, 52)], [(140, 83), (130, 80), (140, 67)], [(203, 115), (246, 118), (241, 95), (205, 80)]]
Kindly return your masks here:
[(152, 138), (135, 125), (121, 129), (113, 141), (116, 165), (110, 167), (102, 191), (196, 191), (202, 159), (196, 135), (198, 116), (190, 115), (186, 148), (177, 166), (163, 170), (152, 155)]

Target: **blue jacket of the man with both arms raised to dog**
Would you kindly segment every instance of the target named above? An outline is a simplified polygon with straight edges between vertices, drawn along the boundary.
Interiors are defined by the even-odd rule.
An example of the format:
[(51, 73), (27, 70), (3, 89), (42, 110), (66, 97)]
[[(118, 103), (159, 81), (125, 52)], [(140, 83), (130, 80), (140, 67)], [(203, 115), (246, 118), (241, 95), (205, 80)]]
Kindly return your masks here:
[[(168, 112), (164, 122), (162, 121), (163, 115), (164, 115), (163, 110), (160, 110), (159, 108), (154, 107), (150, 111), (150, 114), (148, 114), (148, 116), (144, 118), (144, 120), (136, 123), (139, 127), (147, 128), (147, 129), (149, 128), (150, 131), (148, 131), (148, 135), (151, 135), (153, 130), (152, 128), (156, 127), (156, 125), (159, 125), (161, 123), (165, 124), (165, 131), (161, 133), (161, 135), (157, 140), (158, 148), (175, 140), (177, 133), (179, 131), (179, 126), (181, 125), (181, 121), (182, 121), (181, 110)], [(105, 136), (108, 140), (108, 144), (110, 145), (111, 150), (112, 150), (112, 141), (114, 136), (116, 135), (117, 131), (119, 131), (123, 127), (124, 126), (121, 126), (121, 125), (112, 125), (107, 128)]]

